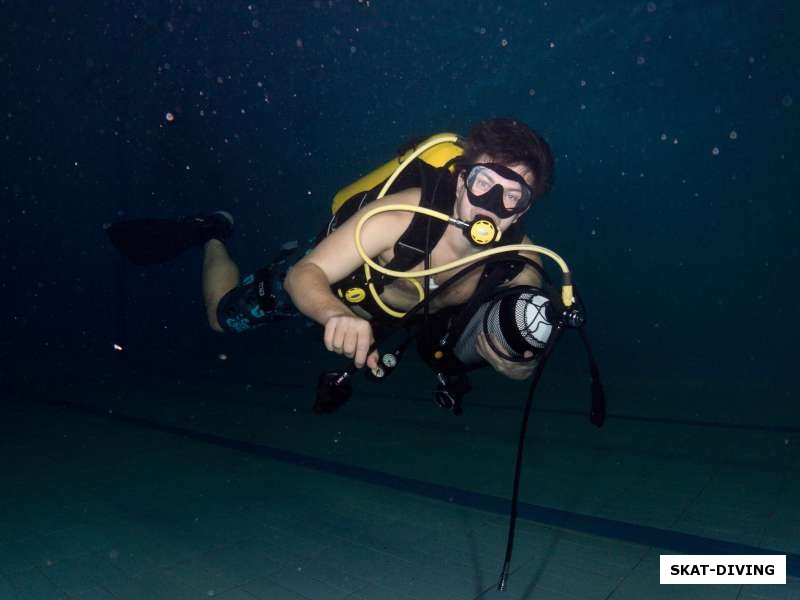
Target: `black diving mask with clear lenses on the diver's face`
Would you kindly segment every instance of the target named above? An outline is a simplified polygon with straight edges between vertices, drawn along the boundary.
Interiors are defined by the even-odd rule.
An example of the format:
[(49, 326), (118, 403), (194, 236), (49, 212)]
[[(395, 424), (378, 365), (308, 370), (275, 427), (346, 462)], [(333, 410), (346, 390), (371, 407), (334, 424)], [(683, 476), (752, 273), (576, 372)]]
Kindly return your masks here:
[[(511, 184), (507, 188), (496, 181), (494, 175), (509, 179), (519, 186)], [(499, 163), (480, 163), (467, 165), (464, 183), (469, 201), (478, 208), (483, 208), (507, 219), (522, 214), (531, 206), (533, 189), (516, 171)]]

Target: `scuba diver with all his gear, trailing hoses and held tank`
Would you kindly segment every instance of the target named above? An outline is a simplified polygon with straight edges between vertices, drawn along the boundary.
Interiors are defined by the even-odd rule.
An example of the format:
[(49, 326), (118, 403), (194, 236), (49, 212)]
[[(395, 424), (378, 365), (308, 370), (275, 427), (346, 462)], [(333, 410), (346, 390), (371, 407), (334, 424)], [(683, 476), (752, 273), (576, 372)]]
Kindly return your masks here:
[[(303, 254), (295, 243), (266, 266), (240, 278), (225, 241), (225, 212), (179, 219), (134, 219), (106, 227), (111, 242), (135, 264), (171, 260), (203, 246), (208, 322), (240, 333), (305, 315), (323, 329), (325, 347), (348, 359), (320, 375), (315, 413), (350, 397), (352, 375), (375, 379), (397, 366), (416, 341), (435, 373), (434, 399), (458, 415), (470, 390), (468, 372), (491, 366), (532, 379), (517, 452), (509, 541), (499, 587), (505, 588), (517, 515), (523, 441), (534, 389), (560, 332), (578, 328), (591, 368), (590, 420), (605, 418), (597, 365), (580, 326), (583, 307), (566, 263), (536, 246), (524, 219), (550, 191), (554, 160), (547, 142), (514, 119), (488, 119), (466, 138), (439, 134), (340, 190), (332, 218)], [(540, 256), (557, 263), (560, 293)], [(383, 354), (389, 340), (401, 341)]]

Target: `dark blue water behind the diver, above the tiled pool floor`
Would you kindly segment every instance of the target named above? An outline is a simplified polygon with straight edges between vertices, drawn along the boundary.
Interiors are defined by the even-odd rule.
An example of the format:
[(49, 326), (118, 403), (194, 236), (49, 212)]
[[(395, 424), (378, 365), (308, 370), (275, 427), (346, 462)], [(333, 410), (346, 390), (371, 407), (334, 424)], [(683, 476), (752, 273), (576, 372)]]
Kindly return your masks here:
[[(612, 410), (689, 394), (708, 418), (800, 422), (796, 3), (0, 7), (7, 385), (202, 379), (220, 348), (263, 353), (269, 377), (318, 330), (221, 341), (199, 254), (128, 268), (103, 223), (225, 208), (248, 271), (408, 138), (514, 116), (557, 154), (528, 229), (584, 292)], [(554, 371), (583, 382), (579, 352)]]

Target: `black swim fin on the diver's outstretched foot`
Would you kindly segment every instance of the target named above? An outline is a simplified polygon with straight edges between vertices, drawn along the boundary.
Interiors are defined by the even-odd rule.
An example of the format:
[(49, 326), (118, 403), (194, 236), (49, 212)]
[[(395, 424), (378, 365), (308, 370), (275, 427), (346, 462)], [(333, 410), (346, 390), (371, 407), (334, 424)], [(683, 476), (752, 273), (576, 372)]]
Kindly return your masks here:
[(224, 241), (233, 231), (233, 217), (217, 212), (207, 217), (131, 219), (105, 226), (117, 251), (135, 265), (156, 265), (208, 240)]

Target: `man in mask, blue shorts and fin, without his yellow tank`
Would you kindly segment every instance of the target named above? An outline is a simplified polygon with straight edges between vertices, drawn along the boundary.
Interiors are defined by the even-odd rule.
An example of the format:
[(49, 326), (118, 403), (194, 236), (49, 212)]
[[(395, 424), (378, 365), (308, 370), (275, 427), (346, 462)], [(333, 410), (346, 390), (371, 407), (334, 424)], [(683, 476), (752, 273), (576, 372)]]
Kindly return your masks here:
[[(499, 240), (502, 244), (531, 244), (523, 232), (523, 219), (534, 200), (550, 190), (554, 161), (547, 142), (527, 125), (513, 119), (483, 121), (466, 139), (459, 139), (457, 155), (445, 165), (417, 163), (406, 169), (385, 196), (374, 199), (374, 188), (345, 199), (318, 243), (288, 269), (283, 285), (281, 261), (291, 254), (288, 250), (240, 280), (239, 269), (225, 247), (233, 229), (227, 213), (176, 221), (127, 221), (111, 225), (108, 233), (115, 246), (139, 264), (163, 262), (191, 245), (202, 244), (203, 294), (208, 322), (215, 331), (245, 331), (278, 320), (292, 314), (291, 301), (300, 313), (324, 327), (329, 351), (352, 359), (356, 368), (366, 365), (375, 373), (380, 366), (379, 354), (372, 349), (376, 327), (390, 329), (398, 316), (426, 302), (427, 296), (432, 299), (425, 306), (426, 322), (429, 314), (433, 322), (444, 315), (438, 318), (441, 330), (441, 324), (452, 323), (456, 309), (469, 304), (478, 291), (488, 298), (487, 291), (522, 285), (538, 289), (541, 285), (540, 271), (530, 264), (540, 261), (526, 252), (521, 254), (531, 259), (529, 264), (495, 261), (462, 273), (452, 282), (464, 267), (451, 268), (426, 276), (424, 286), (407, 278), (365, 274), (364, 253), (378, 265), (414, 272), (476, 255), (500, 245)], [(451, 224), (396, 208), (361, 223), (365, 213), (397, 205), (432, 207), (451, 217)], [(461, 227), (452, 226), (454, 222)], [(475, 242), (467, 227), (475, 223), (496, 230), (491, 243)], [(142, 243), (143, 236), (147, 243)], [(161, 250), (148, 254), (147, 248), (152, 249), (158, 240)], [(440, 293), (433, 294), (440, 286)], [(543, 299), (528, 294), (525, 302), (533, 302), (534, 297)], [(511, 305), (512, 315), (515, 310), (520, 314), (519, 306)], [(523, 317), (529, 314), (525, 311), (523, 306)], [(509, 343), (504, 344), (487, 328), (475, 329), (466, 354), (479, 357), (511, 379), (528, 378), (536, 368), (536, 349), (544, 346), (550, 332), (545, 312), (539, 302), (534, 317), (519, 323), (522, 337), (514, 335), (522, 344), (510, 344), (516, 356), (498, 351)], [(465, 325), (460, 322), (462, 329)], [(523, 338), (528, 340), (527, 346)]]

